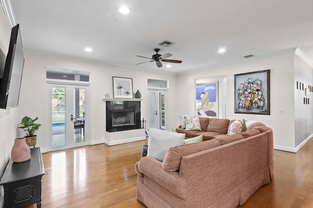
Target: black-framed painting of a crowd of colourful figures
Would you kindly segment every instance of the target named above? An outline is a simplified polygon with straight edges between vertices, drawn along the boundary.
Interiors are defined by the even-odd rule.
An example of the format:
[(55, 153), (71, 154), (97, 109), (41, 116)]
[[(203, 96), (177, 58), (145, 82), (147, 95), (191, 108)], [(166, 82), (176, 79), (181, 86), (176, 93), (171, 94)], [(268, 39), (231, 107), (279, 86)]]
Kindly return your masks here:
[(235, 113), (269, 115), (269, 69), (235, 74)]

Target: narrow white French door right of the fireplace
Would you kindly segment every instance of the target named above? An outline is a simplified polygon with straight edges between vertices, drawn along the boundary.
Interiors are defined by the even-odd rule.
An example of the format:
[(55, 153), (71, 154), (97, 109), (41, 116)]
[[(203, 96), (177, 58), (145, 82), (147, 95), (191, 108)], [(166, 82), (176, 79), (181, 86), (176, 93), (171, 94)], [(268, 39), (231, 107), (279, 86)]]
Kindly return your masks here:
[(167, 90), (149, 90), (149, 127), (167, 126)]

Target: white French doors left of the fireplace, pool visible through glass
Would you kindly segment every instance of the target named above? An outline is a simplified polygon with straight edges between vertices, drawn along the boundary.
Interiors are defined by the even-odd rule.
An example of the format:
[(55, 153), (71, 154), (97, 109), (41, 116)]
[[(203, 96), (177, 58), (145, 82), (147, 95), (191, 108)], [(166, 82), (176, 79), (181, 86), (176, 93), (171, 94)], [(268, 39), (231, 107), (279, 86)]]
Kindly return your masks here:
[(47, 149), (90, 144), (89, 86), (47, 83)]

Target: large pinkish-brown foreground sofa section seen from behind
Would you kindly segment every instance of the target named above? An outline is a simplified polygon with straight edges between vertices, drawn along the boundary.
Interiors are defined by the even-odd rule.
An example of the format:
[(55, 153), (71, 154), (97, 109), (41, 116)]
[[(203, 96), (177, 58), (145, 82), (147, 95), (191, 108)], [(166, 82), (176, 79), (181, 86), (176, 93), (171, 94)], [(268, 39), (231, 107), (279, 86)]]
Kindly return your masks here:
[[(198, 132), (199, 133), (199, 132)], [(136, 198), (148, 208), (236, 208), (272, 180), (273, 134), (265, 125), (172, 146), (163, 162), (135, 164)]]

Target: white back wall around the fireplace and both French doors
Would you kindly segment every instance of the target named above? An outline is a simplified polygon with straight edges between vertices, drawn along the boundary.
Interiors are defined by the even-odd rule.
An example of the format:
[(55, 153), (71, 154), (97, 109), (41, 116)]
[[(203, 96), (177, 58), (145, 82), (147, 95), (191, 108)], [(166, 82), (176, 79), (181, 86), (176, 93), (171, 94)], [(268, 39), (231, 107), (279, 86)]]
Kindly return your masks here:
[[(175, 118), (171, 117), (176, 107), (176, 75), (156, 74), (138, 71), (129, 68), (106, 65), (99, 62), (73, 60), (70, 58), (51, 58), (25, 53), (25, 64), (22, 78), (20, 96), (20, 117), (25, 115), (39, 117), (42, 124), (37, 131), (37, 146), (46, 151), (46, 75), (45, 67), (90, 71), (90, 103), (91, 103), (91, 144), (103, 143), (105, 138), (105, 103), (102, 98), (106, 93), (112, 97), (112, 77), (125, 77), (133, 79), (134, 92), (141, 92), (141, 118), (148, 120), (148, 91), (147, 79), (168, 80), (169, 85), (169, 128), (177, 126)], [(173, 125), (171, 125), (173, 124)], [(20, 129), (21, 130), (21, 129)], [(23, 136), (23, 132), (21, 136)], [(127, 134), (127, 131), (125, 131)], [(142, 136), (145, 136), (142, 135)]]

